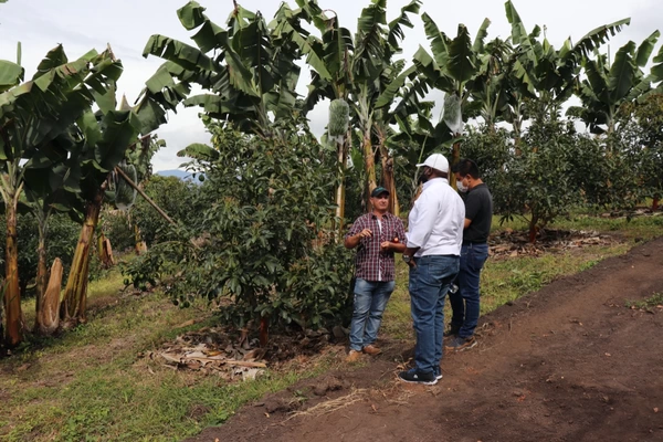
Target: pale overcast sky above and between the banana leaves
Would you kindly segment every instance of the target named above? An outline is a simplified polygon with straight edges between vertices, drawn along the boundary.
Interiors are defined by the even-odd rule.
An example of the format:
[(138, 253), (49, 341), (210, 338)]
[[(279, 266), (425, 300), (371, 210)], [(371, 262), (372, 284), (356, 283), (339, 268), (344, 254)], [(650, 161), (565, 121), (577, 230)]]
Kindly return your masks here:
[[(278, 0), (238, 0), (245, 9), (260, 10), (271, 19)], [(287, 1), (295, 9), (294, 0)], [(661, 0), (557, 0), (543, 2), (515, 0), (514, 4), (526, 28), (546, 25), (549, 41), (558, 48), (568, 36), (576, 41), (590, 30), (623, 18), (631, 18), (631, 25), (622, 30), (611, 41), (612, 52), (633, 40), (640, 43), (663, 23)], [(206, 13), (217, 24), (224, 25), (232, 0), (199, 0), (208, 8)], [(323, 9), (337, 12), (340, 24), (355, 31), (361, 9), (370, 0), (318, 0)], [(388, 19), (391, 20), (409, 0), (388, 0)], [(9, 0), (0, 4), (0, 59), (15, 61), (17, 42), (22, 43), (22, 64), (29, 80), (42, 56), (57, 43), (64, 45), (70, 60), (83, 55), (91, 49), (102, 52), (107, 43), (122, 59), (125, 72), (118, 90), (125, 93), (130, 103), (138, 96), (145, 81), (161, 64), (157, 57), (141, 56), (145, 43), (151, 34), (164, 34), (189, 44), (193, 42), (179, 23), (177, 9), (186, 4), (183, 0), (115, 0), (98, 2), (93, 0)], [(428, 12), (440, 29), (455, 35), (459, 23), (465, 24), (471, 35), (485, 18), (491, 19), (488, 39), (509, 36), (509, 25), (502, 0), (463, 0), (456, 2), (423, 0), (421, 12)], [(269, 21), (269, 20), (267, 20)], [(410, 61), (419, 45), (429, 48), (423, 27), (414, 18), (414, 29), (406, 30), (402, 56)], [(659, 45), (655, 51), (659, 50)], [(302, 75), (299, 90), (305, 92), (307, 75)], [(209, 136), (197, 118), (198, 109), (181, 109), (169, 116), (169, 123), (159, 128), (158, 134), (166, 139), (168, 147), (152, 160), (154, 169), (175, 169), (181, 162), (176, 152), (190, 143), (207, 143)], [(327, 108), (318, 106), (311, 115), (312, 127), (320, 134), (326, 125)]]

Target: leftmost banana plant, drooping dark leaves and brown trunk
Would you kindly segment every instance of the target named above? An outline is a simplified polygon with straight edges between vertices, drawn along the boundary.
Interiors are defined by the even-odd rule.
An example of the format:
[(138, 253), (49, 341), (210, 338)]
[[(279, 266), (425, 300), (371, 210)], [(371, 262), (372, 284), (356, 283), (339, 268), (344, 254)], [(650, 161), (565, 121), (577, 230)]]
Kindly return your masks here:
[[(19, 72), (15, 66), (9, 69)], [(0, 94), (0, 193), (7, 215), (6, 340), (10, 346), (22, 339), (15, 214), (25, 172), (54, 167), (66, 158), (61, 136), (92, 106), (95, 92), (103, 92), (120, 72), (108, 52), (91, 51), (70, 62), (59, 45), (46, 54), (31, 81), (3, 82), (14, 84)]]

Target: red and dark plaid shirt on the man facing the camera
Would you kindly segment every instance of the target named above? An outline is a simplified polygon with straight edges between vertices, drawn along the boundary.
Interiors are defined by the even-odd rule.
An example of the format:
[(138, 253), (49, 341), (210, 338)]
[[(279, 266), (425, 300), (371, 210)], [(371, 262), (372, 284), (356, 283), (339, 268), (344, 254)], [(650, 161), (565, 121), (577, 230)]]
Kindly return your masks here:
[(357, 218), (346, 238), (354, 236), (364, 229), (370, 229), (372, 236), (362, 238), (357, 248), (355, 257), (355, 276), (366, 281), (393, 281), (393, 251), (380, 251), (385, 241), (393, 242), (398, 238), (406, 244), (406, 229), (400, 218), (391, 213), (382, 215), (382, 229), (378, 225), (378, 217), (366, 213)]

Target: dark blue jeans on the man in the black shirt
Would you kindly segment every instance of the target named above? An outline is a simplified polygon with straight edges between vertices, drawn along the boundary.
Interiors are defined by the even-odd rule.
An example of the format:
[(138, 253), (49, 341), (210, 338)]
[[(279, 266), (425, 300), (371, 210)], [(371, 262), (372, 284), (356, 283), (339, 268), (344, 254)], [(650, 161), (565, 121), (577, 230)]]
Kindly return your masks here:
[(451, 327), (459, 329), (459, 336), (469, 338), (474, 335), (478, 323), (481, 270), (488, 259), (488, 244), (467, 244), (461, 249), (461, 271), (455, 281), (459, 290), (449, 294)]

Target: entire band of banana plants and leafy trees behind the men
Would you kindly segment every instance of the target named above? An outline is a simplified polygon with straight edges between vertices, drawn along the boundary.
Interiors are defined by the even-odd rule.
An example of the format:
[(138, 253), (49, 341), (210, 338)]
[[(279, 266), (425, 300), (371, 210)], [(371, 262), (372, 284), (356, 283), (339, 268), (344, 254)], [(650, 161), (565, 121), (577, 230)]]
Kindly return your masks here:
[[(144, 55), (165, 63), (133, 106), (116, 97), (123, 70), (110, 48), (70, 61), (57, 46), (28, 82), (20, 60), (0, 61), (8, 346), (23, 339), (20, 301), (33, 278), (36, 333), (85, 320), (95, 231), (119, 242), (113, 229), (98, 229), (99, 219), (112, 224), (119, 217), (101, 217), (108, 204), (128, 211), (123, 225), (139, 249), (149, 246), (125, 267), (127, 284), (167, 282), (164, 290), (185, 306), (207, 297), (239, 328), (260, 325), (264, 339), (270, 326), (318, 327), (344, 315), (350, 260), (336, 239), (345, 220), (367, 209), (378, 183), (391, 192), (393, 213), (410, 207), (413, 165), (433, 151), (452, 164), (475, 159), (496, 210), (526, 217), (532, 241), (572, 206), (620, 209), (645, 198), (657, 204), (659, 31), (609, 61), (602, 44), (628, 19), (555, 49), (507, 1), (506, 41), (488, 40), (487, 19), (474, 38), (462, 24), (449, 36), (422, 13), (428, 48), (403, 60), (420, 0), (390, 21), (387, 1), (373, 0), (355, 35), (315, 0), (296, 3), (283, 3), (270, 22), (238, 6), (225, 27), (187, 3), (178, 17), (194, 45), (152, 35)], [(305, 96), (302, 65), (312, 74)], [(192, 95), (194, 85), (203, 93)], [(429, 101), (435, 90), (444, 92), (442, 106)], [(582, 106), (562, 116), (573, 95)], [(318, 140), (306, 116), (324, 99), (330, 118)], [(180, 152), (193, 159), (188, 167), (200, 187), (150, 178), (150, 159), (162, 146), (154, 130), (179, 104), (200, 107), (212, 134), (211, 146)], [(579, 122), (591, 135), (576, 129)], [(135, 215), (130, 209), (136, 191), (152, 183), (159, 221), (147, 208)], [(71, 228), (63, 214), (81, 225), (75, 248), (73, 240), (69, 249), (49, 246), (64, 238), (56, 229)], [(33, 220), (27, 222), (36, 244), (20, 234), (27, 224), (19, 220)], [(109, 265), (105, 236), (97, 238)], [(67, 260), (62, 302), (59, 290), (46, 290), (46, 263), (55, 256)]]

